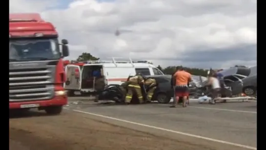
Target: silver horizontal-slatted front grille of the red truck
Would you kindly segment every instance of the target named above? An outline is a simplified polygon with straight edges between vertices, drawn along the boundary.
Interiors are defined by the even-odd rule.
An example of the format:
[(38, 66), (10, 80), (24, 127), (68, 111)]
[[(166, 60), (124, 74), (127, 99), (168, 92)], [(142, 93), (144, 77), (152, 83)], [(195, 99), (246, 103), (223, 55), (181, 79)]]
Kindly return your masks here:
[(36, 101), (54, 96), (53, 74), (49, 68), (9, 70), (9, 101)]

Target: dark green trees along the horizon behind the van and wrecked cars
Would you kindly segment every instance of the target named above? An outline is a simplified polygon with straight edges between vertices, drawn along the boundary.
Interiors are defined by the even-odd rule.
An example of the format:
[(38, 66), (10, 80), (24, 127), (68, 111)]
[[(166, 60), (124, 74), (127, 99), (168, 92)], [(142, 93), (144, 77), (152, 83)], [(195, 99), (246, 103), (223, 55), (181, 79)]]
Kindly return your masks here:
[[(82, 53), (77, 59), (79, 62), (83, 61), (98, 61), (100, 58), (92, 56), (90, 53)], [(152, 64), (152, 63), (150, 63)], [(246, 67), (244, 65), (235, 65), (234, 67)], [(167, 66), (165, 68), (162, 68), (160, 65), (157, 66), (158, 69), (160, 69), (164, 74), (173, 74), (176, 70), (176, 66)], [(206, 76), (208, 69), (201, 69), (201, 68), (190, 68), (190, 67), (184, 67), (184, 70), (189, 72), (192, 75), (196, 76)]]

